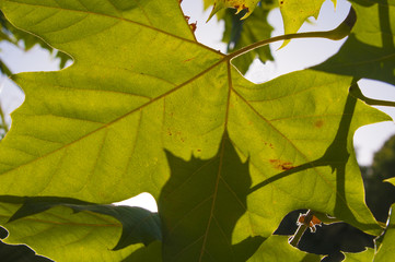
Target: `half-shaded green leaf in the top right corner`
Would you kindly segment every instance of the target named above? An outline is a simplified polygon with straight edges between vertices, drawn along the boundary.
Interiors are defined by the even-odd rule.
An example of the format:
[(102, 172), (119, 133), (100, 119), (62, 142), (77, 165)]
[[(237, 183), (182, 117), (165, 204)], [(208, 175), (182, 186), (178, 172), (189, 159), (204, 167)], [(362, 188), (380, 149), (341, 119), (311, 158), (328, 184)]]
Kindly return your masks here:
[(339, 52), (317, 70), (395, 85), (395, 2), (355, 0), (357, 23)]

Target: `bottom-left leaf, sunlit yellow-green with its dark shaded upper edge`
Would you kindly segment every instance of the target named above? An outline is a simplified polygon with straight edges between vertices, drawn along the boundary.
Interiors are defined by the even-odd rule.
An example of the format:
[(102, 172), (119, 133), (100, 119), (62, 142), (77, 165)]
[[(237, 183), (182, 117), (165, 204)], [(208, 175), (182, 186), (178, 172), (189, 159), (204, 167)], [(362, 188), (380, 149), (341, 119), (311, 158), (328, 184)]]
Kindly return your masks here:
[[(26, 243), (55, 261), (120, 261), (133, 252), (146, 253), (160, 234), (152, 221), (155, 214), (139, 207), (42, 198), (27, 199), (19, 209), (22, 199), (2, 196), (1, 201), (0, 224), (11, 233), (5, 241)], [(159, 252), (150, 255), (156, 259), (144, 261), (160, 258)]]

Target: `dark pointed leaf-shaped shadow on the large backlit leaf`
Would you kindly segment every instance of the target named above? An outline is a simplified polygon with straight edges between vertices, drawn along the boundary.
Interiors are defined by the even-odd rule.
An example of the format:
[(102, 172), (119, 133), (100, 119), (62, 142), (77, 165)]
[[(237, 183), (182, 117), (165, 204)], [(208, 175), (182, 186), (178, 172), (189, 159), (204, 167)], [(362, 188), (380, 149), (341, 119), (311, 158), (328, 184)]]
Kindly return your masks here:
[(211, 159), (185, 162), (166, 155), (171, 178), (158, 204), (163, 260), (246, 261), (264, 241), (259, 236), (243, 235), (249, 226), (245, 222), (237, 224), (243, 233), (235, 229), (247, 210), (248, 162), (241, 162), (226, 134)]

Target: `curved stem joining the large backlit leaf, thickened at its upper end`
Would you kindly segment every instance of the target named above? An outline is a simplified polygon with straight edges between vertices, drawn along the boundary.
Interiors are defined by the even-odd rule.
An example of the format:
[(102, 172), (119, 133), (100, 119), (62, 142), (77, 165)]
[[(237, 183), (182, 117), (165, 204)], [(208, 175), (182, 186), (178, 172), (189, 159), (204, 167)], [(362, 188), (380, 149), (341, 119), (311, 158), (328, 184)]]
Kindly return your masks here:
[(259, 47), (266, 46), (270, 43), (275, 43), (275, 41), (279, 41), (279, 40), (290, 40), (290, 39), (295, 39), (295, 38), (313, 38), (313, 37), (314, 38), (315, 37), (327, 38), (327, 39), (332, 39), (332, 40), (340, 40), (351, 33), (352, 26), (355, 25), (356, 21), (357, 21), (356, 11), (352, 8), (350, 8), (350, 11), (349, 11), (347, 17), (345, 19), (345, 21), (342, 21), (342, 23), (335, 29), (323, 31), (323, 32), (305, 32), (305, 33), (275, 36), (269, 39), (260, 40), (260, 41), (257, 41), (249, 46), (246, 46), (242, 49), (239, 49), (237, 51), (230, 53), (228, 56), (228, 58), (230, 60), (232, 60), (232, 59), (240, 57), (240, 56), (242, 56), (248, 51), (252, 51), (256, 48), (259, 48)]

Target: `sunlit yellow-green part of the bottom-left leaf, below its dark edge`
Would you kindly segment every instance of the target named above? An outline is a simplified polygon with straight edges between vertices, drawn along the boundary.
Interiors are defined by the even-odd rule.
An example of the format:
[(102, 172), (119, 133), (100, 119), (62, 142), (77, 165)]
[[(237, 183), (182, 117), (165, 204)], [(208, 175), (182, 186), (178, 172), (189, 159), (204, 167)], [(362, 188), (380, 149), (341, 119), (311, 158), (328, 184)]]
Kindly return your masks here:
[(120, 237), (121, 225), (109, 216), (90, 212), (73, 214), (71, 209), (58, 206), (7, 223), (16, 209), (15, 204), (0, 204), (0, 223), (10, 231), (4, 241), (26, 243), (55, 261), (72, 262), (78, 258), (86, 262), (118, 262), (144, 247), (136, 243), (112, 251)]

